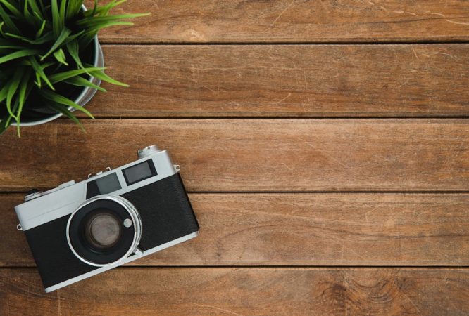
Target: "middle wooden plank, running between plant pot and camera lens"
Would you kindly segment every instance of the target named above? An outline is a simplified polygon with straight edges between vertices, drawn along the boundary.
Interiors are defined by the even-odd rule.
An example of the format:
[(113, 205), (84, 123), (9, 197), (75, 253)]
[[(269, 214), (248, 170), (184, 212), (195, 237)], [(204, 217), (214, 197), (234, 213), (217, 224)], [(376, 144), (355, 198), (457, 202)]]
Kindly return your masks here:
[(191, 192), (467, 191), (465, 119), (60, 120), (1, 136), (1, 190), (56, 187), (152, 143)]

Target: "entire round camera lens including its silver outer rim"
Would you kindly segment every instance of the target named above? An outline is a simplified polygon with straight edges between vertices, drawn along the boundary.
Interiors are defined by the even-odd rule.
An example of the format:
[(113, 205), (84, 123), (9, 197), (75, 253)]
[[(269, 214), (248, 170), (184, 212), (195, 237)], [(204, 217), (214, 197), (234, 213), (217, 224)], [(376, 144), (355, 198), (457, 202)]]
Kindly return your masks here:
[(80, 205), (68, 219), (67, 241), (81, 261), (103, 267), (133, 253), (142, 236), (135, 206), (117, 195), (98, 195)]

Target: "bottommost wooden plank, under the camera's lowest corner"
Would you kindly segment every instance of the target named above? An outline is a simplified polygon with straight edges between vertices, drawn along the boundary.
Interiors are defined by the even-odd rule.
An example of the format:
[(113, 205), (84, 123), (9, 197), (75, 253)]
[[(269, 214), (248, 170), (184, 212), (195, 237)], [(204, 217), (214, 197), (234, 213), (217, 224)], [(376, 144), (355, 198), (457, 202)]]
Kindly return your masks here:
[(0, 270), (4, 315), (463, 315), (467, 269), (118, 268), (45, 294)]

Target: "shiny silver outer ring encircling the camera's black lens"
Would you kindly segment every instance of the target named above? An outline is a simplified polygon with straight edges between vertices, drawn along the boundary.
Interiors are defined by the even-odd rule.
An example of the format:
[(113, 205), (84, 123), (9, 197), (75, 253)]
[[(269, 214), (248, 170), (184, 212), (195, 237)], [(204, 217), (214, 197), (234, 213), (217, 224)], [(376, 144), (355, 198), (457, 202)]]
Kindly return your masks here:
[[(120, 257), (118, 260), (113, 261), (111, 263), (104, 263), (104, 264), (94, 263), (92, 261), (89, 261), (89, 260), (83, 258), (79, 254), (77, 254), (77, 251), (75, 251), (75, 249), (73, 249), (73, 245), (72, 245), (72, 242), (70, 240), (70, 223), (72, 223), (72, 220), (73, 220), (73, 217), (75, 216), (75, 214), (78, 213), (80, 211), (80, 209), (82, 209), (83, 207), (85, 207), (88, 204), (91, 204), (92, 202), (95, 202), (99, 199), (111, 200), (113, 202), (116, 202), (116, 203), (120, 204), (120, 206), (123, 206), (125, 211), (127, 211), (127, 213), (129, 213), (130, 218), (132, 219), (132, 222), (135, 225), (135, 227), (134, 227), (134, 239), (132, 241), (132, 245), (130, 246), (129, 250), (122, 257)], [(75, 211), (73, 211), (70, 218), (68, 218), (66, 235), (67, 235), (67, 242), (68, 242), (68, 246), (69, 246), (70, 250), (73, 252), (75, 257), (77, 257), (78, 259), (80, 259), (80, 261), (86, 263), (87, 265), (93, 265), (94, 267), (107, 267), (109, 265), (119, 265), (119, 263), (123, 263), (123, 261), (125, 261), (125, 259), (128, 256), (130, 256), (131, 254), (133, 254), (135, 252), (135, 250), (137, 249), (137, 246), (140, 243), (140, 239), (142, 238), (142, 219), (140, 218), (139, 212), (137, 211), (135, 206), (133, 206), (133, 204), (130, 203), (127, 199), (124, 199), (123, 197), (120, 197), (118, 195), (96, 195), (96, 197), (92, 197), (91, 199), (87, 199), (84, 203), (80, 204), (80, 206), (78, 206)]]

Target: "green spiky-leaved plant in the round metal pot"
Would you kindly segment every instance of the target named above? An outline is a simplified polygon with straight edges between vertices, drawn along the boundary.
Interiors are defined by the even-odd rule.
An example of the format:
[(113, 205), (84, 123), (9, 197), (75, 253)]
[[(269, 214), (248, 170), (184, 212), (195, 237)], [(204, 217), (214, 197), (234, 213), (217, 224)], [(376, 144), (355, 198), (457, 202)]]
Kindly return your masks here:
[(83, 11), (83, 0), (0, 0), (0, 133), (16, 122), (20, 136), (21, 114), (37, 107), (61, 113), (83, 129), (69, 108), (93, 116), (70, 99), (70, 90), (105, 91), (90, 77), (127, 86), (84, 57), (100, 29), (132, 25), (123, 20), (146, 15), (109, 15), (124, 1), (94, 0), (94, 8)]

